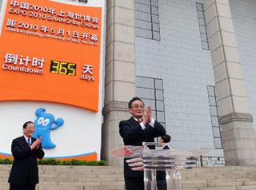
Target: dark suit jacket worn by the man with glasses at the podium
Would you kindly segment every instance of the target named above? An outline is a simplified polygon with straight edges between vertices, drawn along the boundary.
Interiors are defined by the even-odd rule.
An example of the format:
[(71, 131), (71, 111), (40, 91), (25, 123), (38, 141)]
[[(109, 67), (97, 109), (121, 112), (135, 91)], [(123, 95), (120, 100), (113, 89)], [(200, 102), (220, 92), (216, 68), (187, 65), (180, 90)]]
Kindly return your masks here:
[[(154, 128), (146, 124), (146, 129), (142, 129), (141, 125), (130, 117), (129, 120), (119, 123), (119, 133), (125, 145), (142, 146), (142, 142), (154, 142), (154, 137), (160, 137), (166, 134), (166, 129), (154, 121)], [(142, 171), (132, 171), (129, 165), (124, 161), (125, 177), (143, 177)]]

